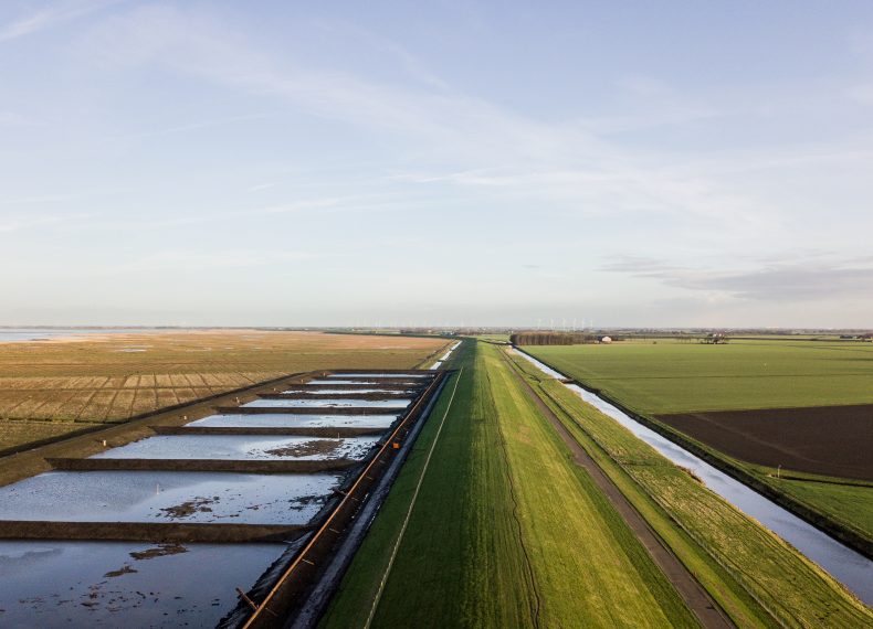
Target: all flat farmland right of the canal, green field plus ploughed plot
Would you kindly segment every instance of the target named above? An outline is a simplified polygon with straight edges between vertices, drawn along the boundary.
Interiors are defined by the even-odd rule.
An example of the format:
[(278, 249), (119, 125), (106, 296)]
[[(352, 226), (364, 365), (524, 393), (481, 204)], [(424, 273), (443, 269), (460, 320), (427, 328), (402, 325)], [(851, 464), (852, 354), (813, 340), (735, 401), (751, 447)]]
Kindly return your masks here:
[[(690, 436), (812, 512), (818, 525), (873, 540), (873, 344), (659, 339), (525, 350)], [(790, 478), (777, 478), (779, 466)]]

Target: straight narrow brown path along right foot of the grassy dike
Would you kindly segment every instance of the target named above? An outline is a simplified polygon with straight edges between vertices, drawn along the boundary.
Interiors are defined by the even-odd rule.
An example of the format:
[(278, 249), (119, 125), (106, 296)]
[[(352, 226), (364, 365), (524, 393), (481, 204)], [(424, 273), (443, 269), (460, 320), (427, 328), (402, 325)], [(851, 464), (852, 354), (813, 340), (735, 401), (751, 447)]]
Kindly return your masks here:
[(534, 401), (537, 408), (543, 413), (549, 423), (555, 427), (560, 438), (570, 449), (574, 462), (589, 473), (591, 479), (598, 486), (600, 491), (607, 497), (616, 511), (622, 516), (624, 522), (631, 529), (640, 543), (649, 551), (654, 563), (661, 568), (667, 577), (673, 587), (676, 588), (685, 605), (697, 616), (697, 619), (707, 629), (723, 629), (734, 627), (729, 619), (727, 619), (715, 601), (709, 597), (707, 591), (701, 586), (694, 575), (688, 572), (685, 565), (661, 542), (658, 534), (649, 526), (645, 520), (628, 501), (621, 490), (610, 480), (610, 478), (600, 469), (600, 466), (588, 455), (582, 446), (574, 438), (567, 430), (557, 415), (543, 402), (540, 396), (534, 391), (534, 387), (525, 380), (518, 367), (501, 352), (503, 359), (509, 363), (513, 373), (522, 383), (525, 392)]

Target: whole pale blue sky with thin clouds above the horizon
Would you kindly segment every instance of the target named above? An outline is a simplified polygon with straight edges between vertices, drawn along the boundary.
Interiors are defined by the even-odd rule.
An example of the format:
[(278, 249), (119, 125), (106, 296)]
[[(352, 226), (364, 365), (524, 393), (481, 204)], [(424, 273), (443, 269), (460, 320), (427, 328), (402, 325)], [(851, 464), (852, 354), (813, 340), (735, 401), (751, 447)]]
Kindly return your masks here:
[(0, 3), (0, 324), (873, 328), (873, 3)]

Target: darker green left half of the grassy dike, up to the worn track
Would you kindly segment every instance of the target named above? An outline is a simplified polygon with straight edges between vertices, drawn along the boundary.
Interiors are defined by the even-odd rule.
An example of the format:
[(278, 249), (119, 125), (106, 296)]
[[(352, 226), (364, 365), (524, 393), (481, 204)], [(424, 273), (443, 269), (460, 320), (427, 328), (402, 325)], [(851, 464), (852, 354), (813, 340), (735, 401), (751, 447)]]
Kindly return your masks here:
[[(512, 514), (506, 461), (473, 372), (471, 343), (452, 411), (421, 488), (377, 623), (530, 626), (536, 601)], [(457, 377), (457, 376), (454, 376)], [(446, 383), (446, 392), (454, 385)], [(323, 626), (362, 627), (445, 412), (442, 395), (334, 597)]]

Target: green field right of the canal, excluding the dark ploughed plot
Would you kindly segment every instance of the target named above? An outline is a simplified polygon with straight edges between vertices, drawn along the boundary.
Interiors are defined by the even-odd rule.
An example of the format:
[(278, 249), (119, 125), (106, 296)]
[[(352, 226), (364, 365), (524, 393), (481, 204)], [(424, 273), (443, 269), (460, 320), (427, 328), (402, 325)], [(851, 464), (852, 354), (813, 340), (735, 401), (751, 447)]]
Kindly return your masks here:
[[(659, 342), (526, 350), (643, 415), (873, 402), (873, 345), (866, 343)], [(810, 509), (873, 536), (873, 488), (780, 482), (772, 470), (729, 460)]]

